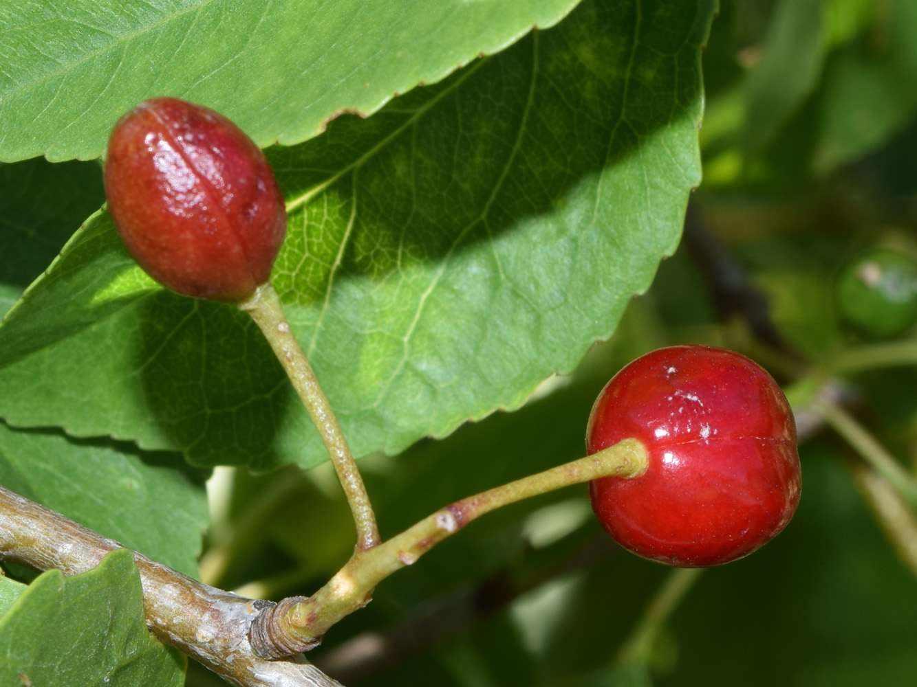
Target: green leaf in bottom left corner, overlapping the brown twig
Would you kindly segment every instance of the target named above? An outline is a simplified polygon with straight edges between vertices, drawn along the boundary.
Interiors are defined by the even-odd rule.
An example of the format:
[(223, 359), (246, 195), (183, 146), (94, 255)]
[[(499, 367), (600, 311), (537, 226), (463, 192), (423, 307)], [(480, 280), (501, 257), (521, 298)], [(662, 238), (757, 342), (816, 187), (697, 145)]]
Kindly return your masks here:
[(73, 577), (39, 576), (0, 618), (0, 683), (179, 687), (186, 659), (151, 638), (129, 551)]

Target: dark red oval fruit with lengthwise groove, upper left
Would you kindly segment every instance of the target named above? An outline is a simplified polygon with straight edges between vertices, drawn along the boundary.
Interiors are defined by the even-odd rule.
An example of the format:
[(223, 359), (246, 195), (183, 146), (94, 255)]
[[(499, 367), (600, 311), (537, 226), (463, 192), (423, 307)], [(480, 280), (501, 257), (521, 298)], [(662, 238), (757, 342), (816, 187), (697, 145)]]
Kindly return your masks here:
[(248, 298), (270, 278), (286, 233), (260, 148), (221, 114), (176, 98), (138, 104), (117, 122), (105, 194), (140, 267), (194, 298)]

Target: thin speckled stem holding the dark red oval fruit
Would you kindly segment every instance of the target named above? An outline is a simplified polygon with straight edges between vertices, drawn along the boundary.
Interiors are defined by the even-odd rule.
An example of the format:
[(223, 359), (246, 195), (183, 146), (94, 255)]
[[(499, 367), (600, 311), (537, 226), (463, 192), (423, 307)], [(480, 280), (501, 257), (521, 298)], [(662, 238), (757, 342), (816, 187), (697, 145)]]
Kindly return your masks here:
[(303, 405), (315, 423), (322, 442), (325, 443), (357, 526), (357, 551), (371, 549), (379, 544), (380, 538), (370, 496), (366, 493), (357, 462), (350, 453), (331, 404), (328, 403), (325, 392), (315, 378), (312, 365), (309, 365), (303, 349), (293, 336), (277, 291), (270, 281), (265, 282), (255, 289), (249, 299), (240, 302), (238, 308), (248, 312), (264, 333), (274, 354), (290, 377), (293, 388), (296, 389), (299, 398), (303, 399)]

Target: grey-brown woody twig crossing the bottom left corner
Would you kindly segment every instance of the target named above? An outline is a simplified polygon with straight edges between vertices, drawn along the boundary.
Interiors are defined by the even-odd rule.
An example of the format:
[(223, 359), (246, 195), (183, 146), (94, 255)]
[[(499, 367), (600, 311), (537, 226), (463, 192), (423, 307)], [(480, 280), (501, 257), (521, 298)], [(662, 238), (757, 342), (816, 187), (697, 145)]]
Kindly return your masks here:
[[(122, 548), (0, 486), (0, 559), (75, 575)], [(252, 651), (249, 627), (270, 602), (199, 583), (137, 552), (134, 561), (143, 584), (147, 626), (161, 641), (239, 687), (340, 687), (303, 657), (264, 660)]]

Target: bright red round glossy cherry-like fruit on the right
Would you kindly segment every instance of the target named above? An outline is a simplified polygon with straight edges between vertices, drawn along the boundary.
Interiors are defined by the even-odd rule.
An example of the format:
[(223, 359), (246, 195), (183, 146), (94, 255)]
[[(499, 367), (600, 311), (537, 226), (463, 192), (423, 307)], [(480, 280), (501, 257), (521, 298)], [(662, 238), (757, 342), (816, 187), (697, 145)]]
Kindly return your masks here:
[(614, 540), (651, 561), (735, 561), (777, 536), (799, 504), (790, 405), (744, 355), (673, 346), (625, 366), (592, 408), (587, 450), (628, 437), (646, 446), (646, 473), (591, 482), (592, 509)]

